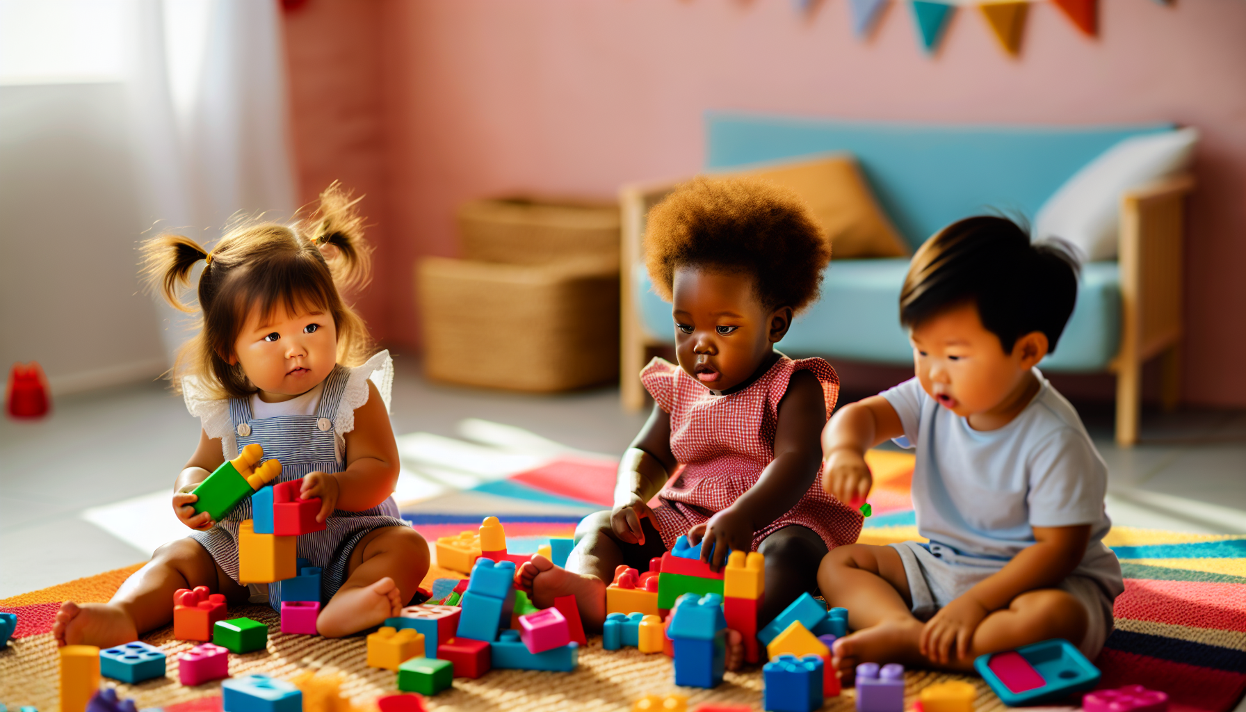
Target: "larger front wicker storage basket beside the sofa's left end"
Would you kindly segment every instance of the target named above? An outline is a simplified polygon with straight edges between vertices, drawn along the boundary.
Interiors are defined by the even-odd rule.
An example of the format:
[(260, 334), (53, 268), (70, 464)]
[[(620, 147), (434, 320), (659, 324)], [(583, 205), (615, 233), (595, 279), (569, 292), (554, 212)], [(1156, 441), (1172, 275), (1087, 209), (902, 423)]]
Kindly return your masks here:
[(618, 378), (618, 258), (416, 267), (430, 378), (554, 392)]

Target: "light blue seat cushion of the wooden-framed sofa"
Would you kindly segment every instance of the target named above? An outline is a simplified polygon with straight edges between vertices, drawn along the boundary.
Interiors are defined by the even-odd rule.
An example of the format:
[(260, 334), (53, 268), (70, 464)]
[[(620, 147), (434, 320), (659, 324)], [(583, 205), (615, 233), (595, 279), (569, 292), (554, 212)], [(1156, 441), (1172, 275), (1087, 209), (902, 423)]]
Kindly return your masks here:
[[(796, 317), (779, 349), (791, 357), (822, 355), (850, 360), (911, 364), (908, 334), (900, 325), (900, 287), (908, 261), (831, 262), (822, 298)], [(674, 343), (670, 304), (649, 288), (642, 266), (633, 269), (639, 314), (648, 335)], [(1052, 372), (1101, 372), (1120, 340), (1120, 272), (1115, 262), (1083, 267), (1078, 303), (1055, 353), (1040, 368)]]

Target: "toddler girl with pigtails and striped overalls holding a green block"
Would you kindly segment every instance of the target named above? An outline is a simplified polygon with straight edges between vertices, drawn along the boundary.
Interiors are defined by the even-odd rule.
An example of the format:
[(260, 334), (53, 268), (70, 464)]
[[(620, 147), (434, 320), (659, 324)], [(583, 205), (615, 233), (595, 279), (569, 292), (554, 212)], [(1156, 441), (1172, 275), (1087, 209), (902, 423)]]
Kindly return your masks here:
[(194, 530), (171, 541), (107, 604), (66, 602), (60, 645), (115, 646), (173, 616), (178, 589), (207, 586), (231, 604), (275, 602), (277, 586), (238, 584), (243, 500), (221, 521), (194, 514), (191, 491), (250, 444), (282, 464), (274, 483), (302, 479), (303, 499), (320, 498), (321, 531), (298, 539), (298, 556), (321, 569), (323, 636), (345, 636), (396, 616), (429, 569), (424, 539), (397, 516), (390, 494), (399, 458), (389, 421), (392, 362), (368, 358), (368, 330), (340, 288), (366, 281), (361, 218), (335, 185), (295, 224), (250, 221), (211, 251), (162, 234), (143, 244), (146, 274), (174, 307), (201, 259), (199, 332), (183, 347), (174, 388), (199, 418), (199, 443), (173, 485), (173, 510)]

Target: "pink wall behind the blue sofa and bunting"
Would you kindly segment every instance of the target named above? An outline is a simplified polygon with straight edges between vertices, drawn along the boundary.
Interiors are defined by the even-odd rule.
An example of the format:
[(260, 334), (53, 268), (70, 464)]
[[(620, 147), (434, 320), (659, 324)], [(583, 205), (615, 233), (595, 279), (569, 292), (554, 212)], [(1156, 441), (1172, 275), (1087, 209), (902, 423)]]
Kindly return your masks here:
[[(822, 0), (807, 17), (785, 0), (379, 1), (359, 10), (379, 36), (358, 51), (381, 52), (388, 202), (371, 214), (384, 214), (379, 330), (390, 342), (417, 344), (412, 264), (455, 253), (459, 201), (520, 188), (609, 196), (624, 181), (690, 173), (703, 160), (705, 110), (928, 122), (1172, 120), (1205, 137), (1187, 249), (1186, 397), (1246, 405), (1239, 0), (1103, 0), (1098, 40), (1034, 4), (1019, 60), (1003, 55), (972, 9), (953, 19), (931, 59), (903, 4), (862, 42), (846, 0)], [(298, 21), (341, 16), (343, 6), (310, 0)], [(325, 131), (335, 131), (330, 123)], [(299, 137), (331, 165), (324, 146), (310, 146), (320, 136)], [(366, 153), (340, 138), (328, 143), (348, 163)]]

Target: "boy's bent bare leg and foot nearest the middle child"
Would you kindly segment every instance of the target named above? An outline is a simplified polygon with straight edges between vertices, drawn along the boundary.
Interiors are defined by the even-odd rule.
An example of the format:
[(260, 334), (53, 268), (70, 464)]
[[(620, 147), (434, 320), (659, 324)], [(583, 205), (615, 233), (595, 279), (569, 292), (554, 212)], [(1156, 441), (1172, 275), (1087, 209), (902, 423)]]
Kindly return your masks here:
[(837, 670), (860, 662), (928, 665), (917, 645), (923, 623), (910, 612), (908, 577), (895, 549), (840, 546), (822, 559), (817, 582), (827, 604), (849, 610), (856, 631), (835, 641), (831, 665)]

